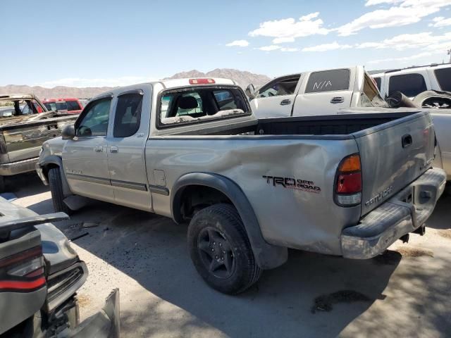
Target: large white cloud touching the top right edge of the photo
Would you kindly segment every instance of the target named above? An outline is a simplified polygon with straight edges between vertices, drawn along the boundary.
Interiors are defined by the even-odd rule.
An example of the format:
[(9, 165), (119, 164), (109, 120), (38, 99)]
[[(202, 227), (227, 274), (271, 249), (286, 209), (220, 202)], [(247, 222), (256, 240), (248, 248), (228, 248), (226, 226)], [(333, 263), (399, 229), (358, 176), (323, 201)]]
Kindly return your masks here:
[[(369, 0), (366, 4), (375, 4)], [(383, 1), (387, 3), (387, 1)], [(398, 2), (398, 1), (395, 1)], [(390, 1), (393, 3), (393, 1)], [(388, 9), (378, 9), (361, 15), (350, 23), (336, 28), (338, 35), (349, 36), (364, 28), (397, 27), (418, 23), (421, 18), (440, 11), (441, 7), (451, 6), (450, 0), (404, 0), (397, 6)]]

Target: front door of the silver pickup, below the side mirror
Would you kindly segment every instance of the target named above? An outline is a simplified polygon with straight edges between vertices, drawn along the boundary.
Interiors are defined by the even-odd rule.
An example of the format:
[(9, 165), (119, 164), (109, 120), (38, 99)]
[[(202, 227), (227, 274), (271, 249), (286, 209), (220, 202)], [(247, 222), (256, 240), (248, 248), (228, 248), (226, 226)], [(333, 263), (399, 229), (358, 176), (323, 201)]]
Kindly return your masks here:
[(108, 95), (89, 102), (62, 153), (71, 192), (109, 202), (114, 201), (106, 152), (111, 99)]

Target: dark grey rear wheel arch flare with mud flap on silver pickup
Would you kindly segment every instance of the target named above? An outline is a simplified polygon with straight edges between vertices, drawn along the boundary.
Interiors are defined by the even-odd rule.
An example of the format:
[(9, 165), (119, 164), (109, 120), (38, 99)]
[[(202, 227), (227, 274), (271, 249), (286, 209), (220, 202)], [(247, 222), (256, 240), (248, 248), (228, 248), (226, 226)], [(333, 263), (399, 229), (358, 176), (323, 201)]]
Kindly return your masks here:
[(261, 234), (260, 225), (254, 209), (242, 189), (232, 180), (222, 175), (211, 173), (188, 173), (180, 177), (171, 189), (171, 214), (175, 222), (180, 222), (180, 203), (185, 187), (203, 185), (217, 189), (225, 194), (237, 209), (245, 225), (247, 237), (252, 246), (255, 260), (262, 269), (277, 268), (288, 259), (288, 249), (283, 246), (268, 244)]

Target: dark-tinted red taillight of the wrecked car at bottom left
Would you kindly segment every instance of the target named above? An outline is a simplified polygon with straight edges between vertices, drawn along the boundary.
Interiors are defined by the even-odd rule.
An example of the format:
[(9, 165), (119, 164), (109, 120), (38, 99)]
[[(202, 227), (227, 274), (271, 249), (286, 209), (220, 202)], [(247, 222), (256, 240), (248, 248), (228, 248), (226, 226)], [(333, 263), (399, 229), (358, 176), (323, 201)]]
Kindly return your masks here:
[(41, 246), (0, 260), (0, 291), (39, 289), (45, 284)]

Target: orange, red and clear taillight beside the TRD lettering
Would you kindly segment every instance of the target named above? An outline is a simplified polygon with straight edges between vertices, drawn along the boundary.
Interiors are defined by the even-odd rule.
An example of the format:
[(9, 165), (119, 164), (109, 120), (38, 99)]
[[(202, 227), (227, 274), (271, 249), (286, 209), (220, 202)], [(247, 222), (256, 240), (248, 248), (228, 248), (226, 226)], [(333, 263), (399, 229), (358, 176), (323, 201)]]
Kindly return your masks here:
[(359, 154), (343, 158), (335, 178), (335, 203), (357, 206), (362, 202), (362, 166)]

